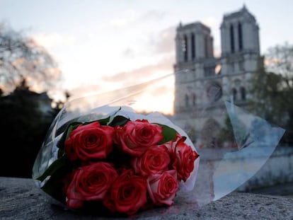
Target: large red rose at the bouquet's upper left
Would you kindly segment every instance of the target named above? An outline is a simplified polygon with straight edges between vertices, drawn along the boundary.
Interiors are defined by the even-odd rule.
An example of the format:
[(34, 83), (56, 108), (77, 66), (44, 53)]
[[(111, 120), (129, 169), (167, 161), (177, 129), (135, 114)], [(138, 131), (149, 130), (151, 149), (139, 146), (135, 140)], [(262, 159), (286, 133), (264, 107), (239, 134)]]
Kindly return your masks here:
[(69, 160), (76, 158), (88, 161), (93, 158), (106, 158), (113, 149), (114, 128), (93, 122), (79, 125), (65, 141), (65, 153)]

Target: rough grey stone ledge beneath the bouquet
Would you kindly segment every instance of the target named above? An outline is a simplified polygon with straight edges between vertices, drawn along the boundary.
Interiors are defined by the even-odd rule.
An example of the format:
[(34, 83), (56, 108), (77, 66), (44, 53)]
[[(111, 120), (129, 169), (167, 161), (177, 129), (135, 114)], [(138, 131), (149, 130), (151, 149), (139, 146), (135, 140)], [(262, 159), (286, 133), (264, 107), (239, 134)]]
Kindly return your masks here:
[[(0, 219), (105, 219), (50, 204), (30, 179), (0, 177), (0, 199)], [(131, 219), (293, 219), (292, 204), (293, 198), (233, 192), (201, 209), (159, 209), (160, 216), (151, 210)]]

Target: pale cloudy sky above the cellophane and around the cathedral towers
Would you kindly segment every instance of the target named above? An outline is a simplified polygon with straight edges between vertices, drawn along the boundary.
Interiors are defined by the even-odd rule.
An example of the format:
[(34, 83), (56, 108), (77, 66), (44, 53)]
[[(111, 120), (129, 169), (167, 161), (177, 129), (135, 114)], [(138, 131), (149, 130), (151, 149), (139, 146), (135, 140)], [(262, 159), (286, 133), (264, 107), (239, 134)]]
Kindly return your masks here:
[[(260, 26), (262, 54), (270, 46), (292, 43), (289, 0), (0, 0), (0, 22), (23, 30), (44, 46), (62, 70), (60, 88), (80, 96), (171, 74), (180, 22), (208, 25), (214, 53), (219, 55), (222, 17), (243, 4)], [(166, 81), (161, 93), (170, 93), (172, 86), (172, 80)]]

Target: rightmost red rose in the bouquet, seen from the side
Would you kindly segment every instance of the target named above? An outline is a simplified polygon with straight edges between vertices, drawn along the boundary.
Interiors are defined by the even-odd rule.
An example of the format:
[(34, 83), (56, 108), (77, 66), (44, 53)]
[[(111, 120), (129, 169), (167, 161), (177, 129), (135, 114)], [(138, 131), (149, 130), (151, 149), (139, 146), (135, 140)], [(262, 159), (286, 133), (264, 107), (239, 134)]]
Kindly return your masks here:
[(177, 170), (178, 180), (184, 182), (190, 176), (194, 169), (195, 159), (198, 154), (193, 149), (185, 144), (186, 137), (182, 137), (176, 144), (174, 149), (174, 163), (173, 168)]

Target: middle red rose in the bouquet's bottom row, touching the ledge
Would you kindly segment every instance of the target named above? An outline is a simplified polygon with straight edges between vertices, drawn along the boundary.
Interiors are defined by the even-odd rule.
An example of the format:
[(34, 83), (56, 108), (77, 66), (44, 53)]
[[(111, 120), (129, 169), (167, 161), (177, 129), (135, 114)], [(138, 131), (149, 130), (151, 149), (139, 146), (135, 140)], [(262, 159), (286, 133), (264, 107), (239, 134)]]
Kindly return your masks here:
[(107, 197), (103, 200), (111, 212), (134, 214), (146, 204), (146, 180), (125, 170), (113, 183)]

